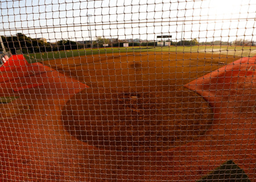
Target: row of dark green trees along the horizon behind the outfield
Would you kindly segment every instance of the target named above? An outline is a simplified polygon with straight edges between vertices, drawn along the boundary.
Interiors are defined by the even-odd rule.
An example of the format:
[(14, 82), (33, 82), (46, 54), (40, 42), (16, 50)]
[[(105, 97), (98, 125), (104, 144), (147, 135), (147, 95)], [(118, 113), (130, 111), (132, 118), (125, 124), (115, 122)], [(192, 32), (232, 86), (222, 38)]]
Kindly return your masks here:
[[(22, 33), (18, 33), (12, 36), (2, 36), (3, 44), (6, 51), (10, 51), (12, 54), (16, 53), (38, 53), (38, 52), (51, 52), (51, 51), (66, 51), (72, 49), (82, 48), (102, 48), (102, 47), (123, 47), (123, 43), (129, 43), (129, 47), (133, 46), (157, 46), (157, 42), (127, 42), (126, 40), (118, 39), (105, 39), (97, 37), (90, 41), (77, 43), (72, 40), (59, 40), (56, 43), (44, 42), (44, 40), (30, 38)], [(197, 39), (182, 40), (179, 42), (170, 42), (170, 46), (193, 46), (198, 45)], [(105, 45), (104, 45), (105, 44)], [(0, 48), (1, 51), (1, 48)]]

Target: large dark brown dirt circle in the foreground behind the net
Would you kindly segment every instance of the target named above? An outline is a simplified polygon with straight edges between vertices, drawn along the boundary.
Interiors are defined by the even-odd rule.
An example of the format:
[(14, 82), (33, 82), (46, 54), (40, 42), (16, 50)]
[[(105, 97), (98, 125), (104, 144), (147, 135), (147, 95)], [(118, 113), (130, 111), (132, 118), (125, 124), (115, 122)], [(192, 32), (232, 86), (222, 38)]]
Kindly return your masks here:
[(163, 151), (198, 139), (212, 123), (208, 103), (185, 88), (130, 91), (83, 90), (63, 109), (65, 128), (102, 150)]

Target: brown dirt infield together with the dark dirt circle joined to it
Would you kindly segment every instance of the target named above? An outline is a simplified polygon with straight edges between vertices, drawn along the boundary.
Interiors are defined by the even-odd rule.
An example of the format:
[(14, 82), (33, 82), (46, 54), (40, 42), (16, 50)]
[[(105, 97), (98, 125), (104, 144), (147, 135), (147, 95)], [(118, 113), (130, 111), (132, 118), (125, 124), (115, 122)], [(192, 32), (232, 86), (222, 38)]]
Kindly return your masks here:
[(183, 85), (238, 59), (205, 53), (114, 53), (44, 61), (90, 88), (62, 111), (65, 129), (103, 150), (163, 151), (210, 129), (208, 102)]

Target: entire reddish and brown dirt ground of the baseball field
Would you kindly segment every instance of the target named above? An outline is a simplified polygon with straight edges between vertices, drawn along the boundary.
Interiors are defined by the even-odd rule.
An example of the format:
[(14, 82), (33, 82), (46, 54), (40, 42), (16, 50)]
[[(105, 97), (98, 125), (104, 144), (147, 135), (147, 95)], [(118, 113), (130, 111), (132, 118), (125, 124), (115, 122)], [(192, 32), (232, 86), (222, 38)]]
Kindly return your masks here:
[(2, 176), (195, 181), (232, 160), (253, 179), (255, 57), (143, 50), (3, 72)]

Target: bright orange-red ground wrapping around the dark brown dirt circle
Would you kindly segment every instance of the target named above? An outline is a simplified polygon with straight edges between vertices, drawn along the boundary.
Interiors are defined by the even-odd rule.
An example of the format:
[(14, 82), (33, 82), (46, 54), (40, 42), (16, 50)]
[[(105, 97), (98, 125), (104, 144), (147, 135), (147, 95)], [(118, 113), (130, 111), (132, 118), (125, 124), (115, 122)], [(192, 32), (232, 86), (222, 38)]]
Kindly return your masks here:
[[(22, 72), (2, 71), (0, 95), (19, 97), (11, 103), (29, 105), (30, 110), (16, 118), (0, 121), (0, 179), (195, 181), (226, 160), (233, 160), (249, 179), (254, 179), (255, 59), (243, 57), (217, 71), (210, 72), (209, 69), (210, 73), (203, 77), (195, 73), (195, 78), (200, 78), (194, 81), (187, 79), (185, 86), (203, 96), (213, 108), (213, 125), (196, 141), (163, 152), (104, 150), (72, 137), (64, 128), (61, 113), (75, 94), (85, 90), (85, 84), (40, 63), (24, 65), (27, 71), (26, 68), (22, 68)], [(134, 67), (137, 66), (134, 64)], [(180, 70), (186, 69), (179, 67)], [(12, 74), (16, 75), (11, 77)], [(185, 73), (179, 71), (179, 74), (186, 78)], [(35, 83), (43, 85), (14, 92), (14, 89)], [(89, 84), (93, 87), (96, 82), (92, 80)], [(109, 84), (112, 84), (111, 80)]]

